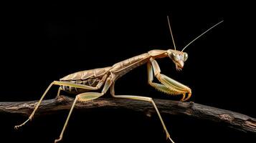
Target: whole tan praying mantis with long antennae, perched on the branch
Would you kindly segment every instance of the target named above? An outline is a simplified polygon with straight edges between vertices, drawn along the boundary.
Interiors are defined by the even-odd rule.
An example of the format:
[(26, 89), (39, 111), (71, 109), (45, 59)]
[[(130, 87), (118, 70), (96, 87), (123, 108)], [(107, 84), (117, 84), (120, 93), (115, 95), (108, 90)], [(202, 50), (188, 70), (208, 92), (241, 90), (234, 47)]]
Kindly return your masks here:
[[(34, 111), (29, 116), (29, 118), (22, 124), (16, 125), (14, 128), (18, 129), (19, 127), (22, 127), (24, 124), (32, 120), (35, 112), (37, 111), (40, 103), (44, 99), (49, 89), (52, 86), (57, 85), (57, 86), (60, 86), (57, 92), (57, 96), (60, 95), (61, 91), (77, 94), (75, 96), (75, 100), (72, 104), (72, 107), (70, 108), (70, 112), (67, 116), (64, 127), (62, 128), (60, 137), (54, 140), (55, 143), (60, 142), (60, 140), (62, 140), (63, 134), (65, 132), (67, 123), (70, 119), (70, 116), (75, 107), (75, 104), (77, 102), (88, 102), (88, 101), (92, 101), (93, 99), (102, 97), (108, 91), (108, 89), (110, 89), (110, 94), (114, 98), (136, 99), (136, 100), (150, 102), (153, 105), (154, 109), (156, 110), (156, 113), (158, 114), (158, 118), (160, 119), (163, 129), (166, 133), (166, 139), (169, 139), (169, 141), (174, 143), (173, 139), (171, 139), (171, 136), (168, 130), (166, 129), (166, 125), (163, 122), (161, 114), (158, 111), (158, 108), (155, 102), (153, 102), (153, 99), (151, 97), (115, 94), (116, 80), (118, 80), (123, 75), (127, 74), (129, 71), (135, 69), (136, 67), (141, 66), (142, 64), (147, 64), (148, 84), (151, 85), (151, 87), (154, 87), (158, 91), (164, 92), (166, 94), (172, 94), (172, 95), (181, 94), (182, 95), (181, 101), (186, 101), (191, 97), (191, 89), (189, 87), (187, 87), (184, 84), (181, 84), (180, 82), (176, 82), (174, 79), (171, 79), (170, 77), (167, 77), (164, 74), (161, 74), (161, 69), (158, 66), (156, 59), (169, 57), (174, 62), (176, 66), (176, 70), (181, 71), (181, 69), (184, 67), (184, 62), (188, 59), (188, 54), (184, 52), (184, 49), (186, 49), (186, 47), (192, 44), (196, 39), (206, 34), (207, 31), (219, 25), (223, 21), (220, 21), (219, 23), (215, 24), (211, 28), (207, 29), (207, 31), (204, 31), (202, 34), (200, 34), (191, 42), (189, 42), (189, 44), (184, 46), (184, 48), (181, 51), (178, 51), (176, 50), (174, 36), (171, 31), (169, 16), (167, 16), (167, 20), (169, 24), (169, 30), (171, 33), (171, 39), (174, 44), (174, 49), (168, 49), (168, 50), (154, 49), (154, 50), (148, 51), (147, 53), (140, 54), (138, 56), (133, 56), (132, 58), (125, 59), (124, 61), (120, 61), (114, 64), (113, 66), (108, 66), (108, 67), (103, 67), (98, 69), (90, 69), (85, 71), (78, 71), (73, 74), (69, 74), (66, 77), (61, 78), (59, 81), (54, 81), (51, 84), (49, 84), (49, 87), (47, 87), (44, 94), (42, 94), (42, 97), (39, 99), (39, 102), (37, 103), (36, 107), (34, 108)], [(153, 82), (154, 77), (156, 77), (156, 79), (158, 79), (160, 83)], [(101, 92), (95, 92), (100, 89), (101, 89)]]

